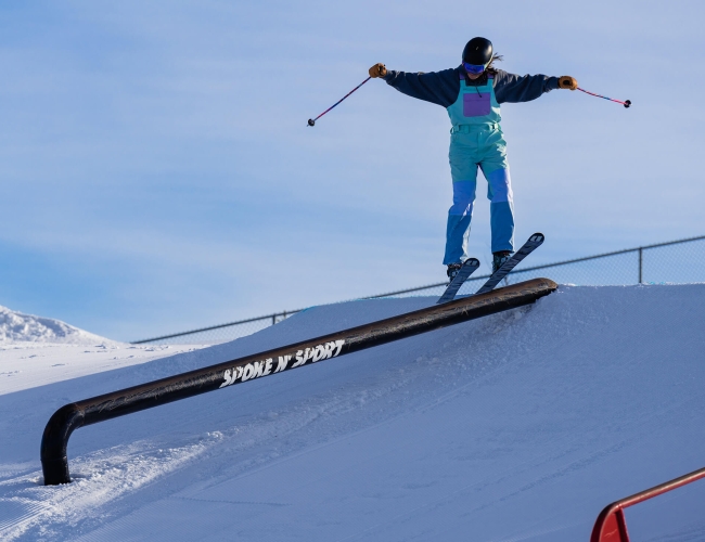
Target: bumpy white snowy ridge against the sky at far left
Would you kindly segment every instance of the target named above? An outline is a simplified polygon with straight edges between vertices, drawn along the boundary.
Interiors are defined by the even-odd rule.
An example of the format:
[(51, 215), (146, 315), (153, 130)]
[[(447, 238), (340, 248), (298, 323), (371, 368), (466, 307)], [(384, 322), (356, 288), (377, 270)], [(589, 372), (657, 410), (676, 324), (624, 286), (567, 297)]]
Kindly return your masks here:
[(94, 345), (114, 341), (61, 320), (25, 314), (0, 306), (0, 344), (8, 343)]

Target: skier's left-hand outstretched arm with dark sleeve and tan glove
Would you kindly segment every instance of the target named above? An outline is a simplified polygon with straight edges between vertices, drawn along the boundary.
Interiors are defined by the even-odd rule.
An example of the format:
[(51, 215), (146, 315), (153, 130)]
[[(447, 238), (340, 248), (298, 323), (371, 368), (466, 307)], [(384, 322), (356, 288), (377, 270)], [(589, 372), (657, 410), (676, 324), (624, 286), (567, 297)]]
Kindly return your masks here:
[(369, 72), (370, 77), (381, 77), (387, 85), (403, 94), (444, 107), (452, 105), (460, 91), (460, 77), (457, 68), (414, 74), (387, 69), (384, 64), (380, 63), (372, 66)]

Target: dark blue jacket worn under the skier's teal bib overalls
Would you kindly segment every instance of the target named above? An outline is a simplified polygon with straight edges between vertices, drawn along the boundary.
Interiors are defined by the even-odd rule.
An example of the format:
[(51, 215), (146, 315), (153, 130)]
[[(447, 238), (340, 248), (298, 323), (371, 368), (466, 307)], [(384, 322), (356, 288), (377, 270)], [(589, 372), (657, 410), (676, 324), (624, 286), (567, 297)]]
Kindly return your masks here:
[[(495, 98), (498, 103), (529, 102), (536, 100), (544, 92), (559, 88), (559, 78), (546, 75), (518, 76), (497, 69), (495, 74)], [(384, 76), (387, 85), (411, 98), (425, 100), (448, 107), (456, 103), (460, 93), (460, 80), (465, 79), (467, 85), (483, 86), (487, 83), (487, 73), (475, 80), (466, 77), (465, 68), (444, 69), (428, 74), (413, 74), (410, 72), (388, 70)]]

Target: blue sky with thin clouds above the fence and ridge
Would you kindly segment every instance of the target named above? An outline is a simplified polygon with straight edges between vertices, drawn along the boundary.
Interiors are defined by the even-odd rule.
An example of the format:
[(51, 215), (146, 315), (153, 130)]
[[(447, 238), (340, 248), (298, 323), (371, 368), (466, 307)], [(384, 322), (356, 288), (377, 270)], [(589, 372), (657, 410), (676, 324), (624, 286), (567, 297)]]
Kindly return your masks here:
[[(446, 112), (370, 81), (490, 38), (517, 237), (553, 261), (705, 232), (700, 2), (0, 7), (0, 305), (136, 339), (444, 279)], [(480, 179), (479, 194), (484, 194)], [(479, 197), (471, 247), (489, 254)]]

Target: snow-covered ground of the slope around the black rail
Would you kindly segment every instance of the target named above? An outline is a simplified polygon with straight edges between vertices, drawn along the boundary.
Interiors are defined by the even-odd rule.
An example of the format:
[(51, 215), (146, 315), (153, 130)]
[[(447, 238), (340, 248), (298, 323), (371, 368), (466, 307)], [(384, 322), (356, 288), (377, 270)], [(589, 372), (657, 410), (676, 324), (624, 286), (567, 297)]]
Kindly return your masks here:
[[(41, 485), (41, 431), (64, 403), (434, 301), (317, 307), (175, 354), (3, 348), (0, 372), (65, 365), (43, 362), (22, 386), (0, 377), (0, 538), (587, 542), (610, 502), (705, 466), (705, 285), (561, 286), (80, 428), (75, 481)], [(121, 358), (81, 373), (80, 348), (99, 365)], [(119, 366), (130, 351), (138, 364)], [(629, 508), (633, 540), (705, 539), (704, 498), (701, 481)]]

